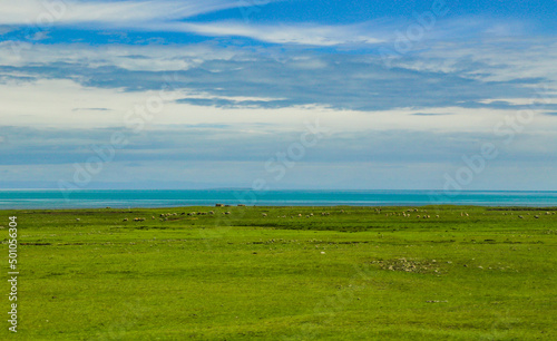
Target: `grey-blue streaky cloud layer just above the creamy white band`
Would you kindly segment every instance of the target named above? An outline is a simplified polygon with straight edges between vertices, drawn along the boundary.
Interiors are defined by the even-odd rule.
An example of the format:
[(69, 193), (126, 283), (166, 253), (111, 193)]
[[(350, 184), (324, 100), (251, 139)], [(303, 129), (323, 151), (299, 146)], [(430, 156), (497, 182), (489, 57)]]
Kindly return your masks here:
[[(485, 48), (478, 45), (476, 50)], [(506, 65), (502, 59), (502, 53), (510, 53), (510, 50), (499, 55), (492, 52), (482, 60), (470, 60), (465, 52), (471, 52), (471, 48), (459, 51), (456, 46), (452, 51), (456, 58), (442, 58), (434, 47), (401, 58), (389, 69), (378, 55), (303, 50), (266, 50), (261, 53), (207, 43), (146, 47), (35, 45), (32, 50), (23, 50), (17, 59), (10, 59), (8, 52), (0, 53), (0, 65), (3, 65), (0, 67), (0, 82), (66, 79), (86, 88), (143, 92), (159, 90), (165, 78), (170, 77), (173, 87), (192, 95), (179, 97), (179, 104), (205, 107), (317, 105), (362, 111), (414, 108), (414, 113), (428, 114), (432, 113), (430, 108), (446, 107), (519, 110), (525, 105), (515, 103), (514, 98), (536, 97), (540, 85), (557, 80), (547, 60), (553, 58), (550, 46), (540, 41), (532, 42), (530, 48), (547, 51), (538, 56), (539, 65), (547, 64), (545, 76), (511, 77), (518, 59), (511, 59), (511, 65)], [(2, 49), (9, 47), (0, 43), (0, 51)], [(498, 65), (492, 65), (496, 60), (499, 60)], [(540, 74), (538, 67), (532, 65), (532, 75)], [(505, 75), (505, 78), (494, 80), (502, 78), (499, 75)], [(37, 86), (45, 87), (41, 82)], [(74, 90), (74, 87), (68, 89), (69, 94)], [(117, 96), (125, 97), (123, 94)], [(106, 98), (113, 100), (113, 95)], [(117, 101), (116, 97), (114, 100)], [(91, 107), (105, 106), (96, 104)], [(546, 106), (546, 110), (555, 111), (555, 108)]]

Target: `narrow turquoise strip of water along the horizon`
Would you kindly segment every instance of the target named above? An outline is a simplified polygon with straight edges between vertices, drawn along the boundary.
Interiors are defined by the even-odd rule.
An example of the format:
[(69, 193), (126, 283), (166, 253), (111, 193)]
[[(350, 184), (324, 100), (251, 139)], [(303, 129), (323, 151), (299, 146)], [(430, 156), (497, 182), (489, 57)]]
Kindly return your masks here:
[(481, 205), (557, 206), (557, 192), (442, 191), (0, 191), (0, 210), (172, 207), (223, 204), (256, 206)]

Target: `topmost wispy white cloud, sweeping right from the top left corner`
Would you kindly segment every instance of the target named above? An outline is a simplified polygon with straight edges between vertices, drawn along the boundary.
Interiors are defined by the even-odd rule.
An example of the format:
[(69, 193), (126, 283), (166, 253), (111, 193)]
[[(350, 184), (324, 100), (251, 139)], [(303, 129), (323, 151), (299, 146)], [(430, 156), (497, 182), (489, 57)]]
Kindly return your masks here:
[[(397, 41), (416, 20), (381, 18), (363, 22), (330, 25), (320, 22), (272, 21), (267, 23), (241, 20), (196, 20), (201, 14), (243, 7), (261, 8), (281, 0), (237, 1), (53, 1), (22, 0), (17, 6), (0, 3), (0, 32), (2, 26), (77, 27), (87, 30), (133, 30), (149, 32), (187, 32), (205, 37), (243, 37), (276, 45), (317, 47), (368, 46)], [(53, 3), (53, 4), (51, 4)], [(46, 20), (46, 18), (50, 18)], [(510, 37), (520, 35), (527, 21), (496, 20), (488, 17), (437, 18), (433, 28), (427, 28), (422, 40), (443, 40), (448, 37)], [(13, 29), (13, 28), (9, 28)], [(39, 31), (29, 39), (45, 39)]]

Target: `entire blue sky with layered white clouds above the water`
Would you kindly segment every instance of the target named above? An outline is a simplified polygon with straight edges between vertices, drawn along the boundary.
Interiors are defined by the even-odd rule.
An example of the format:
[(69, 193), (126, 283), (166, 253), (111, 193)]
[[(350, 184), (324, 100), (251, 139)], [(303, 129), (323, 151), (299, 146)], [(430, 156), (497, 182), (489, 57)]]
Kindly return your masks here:
[[(4, 1), (0, 188), (555, 191), (556, 12)], [(292, 154), (315, 125), (326, 134)]]

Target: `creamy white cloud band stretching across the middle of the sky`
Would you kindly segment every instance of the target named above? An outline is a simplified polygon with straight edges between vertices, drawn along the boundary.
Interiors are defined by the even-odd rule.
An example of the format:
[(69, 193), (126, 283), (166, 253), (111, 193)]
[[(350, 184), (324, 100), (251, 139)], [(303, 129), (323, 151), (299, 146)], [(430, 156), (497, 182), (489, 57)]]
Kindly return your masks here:
[[(32, 94), (32, 100), (29, 100)], [(166, 92), (165, 98), (222, 98), (228, 100), (271, 100), (258, 97), (216, 97), (190, 95), (185, 91)], [(0, 85), (0, 117), (2, 125), (36, 128), (108, 128), (129, 124), (127, 115), (136, 106), (145, 106), (159, 91), (126, 92), (119, 89), (84, 87), (72, 80), (39, 80), (36, 82)], [(89, 109), (88, 109), (89, 108)], [(99, 110), (106, 108), (107, 110)], [(79, 110), (78, 110), (79, 109)], [(431, 116), (414, 115), (419, 113)], [(436, 115), (437, 114), (437, 115)], [(451, 114), (451, 115), (440, 115)], [(255, 134), (303, 130), (305, 121), (320, 119), (332, 133), (416, 130), (469, 131), (492, 134), (497, 123), (516, 110), (468, 109), (438, 107), (429, 109), (400, 108), (383, 111), (338, 110), (322, 106), (291, 106), (286, 108), (218, 108), (164, 101), (164, 109), (146, 120), (146, 129), (157, 126), (227, 125), (232, 130)], [(260, 125), (256, 130), (254, 125)], [(537, 115), (528, 131), (553, 131), (553, 117)]]

